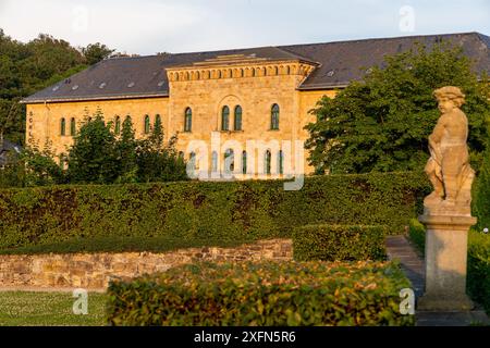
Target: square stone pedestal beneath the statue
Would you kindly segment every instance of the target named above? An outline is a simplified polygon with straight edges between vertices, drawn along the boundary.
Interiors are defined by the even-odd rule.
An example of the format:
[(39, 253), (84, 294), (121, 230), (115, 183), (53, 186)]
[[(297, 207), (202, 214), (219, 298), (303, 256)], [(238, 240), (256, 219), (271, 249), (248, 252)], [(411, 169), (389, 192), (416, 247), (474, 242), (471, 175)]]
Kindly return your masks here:
[(417, 309), (426, 311), (471, 310), (466, 295), (466, 262), (473, 216), (420, 215), (426, 226), (426, 288)]

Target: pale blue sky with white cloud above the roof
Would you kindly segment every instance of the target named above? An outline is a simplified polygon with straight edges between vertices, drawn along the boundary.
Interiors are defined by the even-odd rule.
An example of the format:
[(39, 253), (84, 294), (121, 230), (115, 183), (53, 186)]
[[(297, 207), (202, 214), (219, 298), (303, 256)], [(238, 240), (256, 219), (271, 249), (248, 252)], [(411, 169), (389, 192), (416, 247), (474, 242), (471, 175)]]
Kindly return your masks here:
[(0, 0), (0, 28), (155, 54), (479, 32), (490, 0)]

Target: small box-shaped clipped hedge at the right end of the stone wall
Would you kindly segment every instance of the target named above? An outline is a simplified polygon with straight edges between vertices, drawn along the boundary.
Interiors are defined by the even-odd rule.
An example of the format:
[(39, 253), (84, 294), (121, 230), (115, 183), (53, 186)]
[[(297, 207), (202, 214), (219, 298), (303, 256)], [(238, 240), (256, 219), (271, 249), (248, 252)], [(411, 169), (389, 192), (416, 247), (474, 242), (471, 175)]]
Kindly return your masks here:
[(293, 234), (294, 259), (298, 261), (382, 260), (385, 226), (308, 225)]

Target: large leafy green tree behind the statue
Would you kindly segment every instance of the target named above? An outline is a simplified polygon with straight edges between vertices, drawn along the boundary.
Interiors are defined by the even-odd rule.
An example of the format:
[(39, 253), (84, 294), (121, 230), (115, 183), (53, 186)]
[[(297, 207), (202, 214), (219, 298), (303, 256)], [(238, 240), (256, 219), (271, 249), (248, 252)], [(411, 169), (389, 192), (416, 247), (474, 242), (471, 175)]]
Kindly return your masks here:
[(318, 173), (421, 170), (429, 157), (427, 138), (439, 117), (432, 91), (454, 85), (466, 95), (469, 147), (475, 167), (488, 137), (489, 82), (471, 71), (462, 51), (444, 45), (418, 46), (385, 58), (363, 80), (351, 83), (334, 99), (323, 97), (306, 126), (309, 162)]

